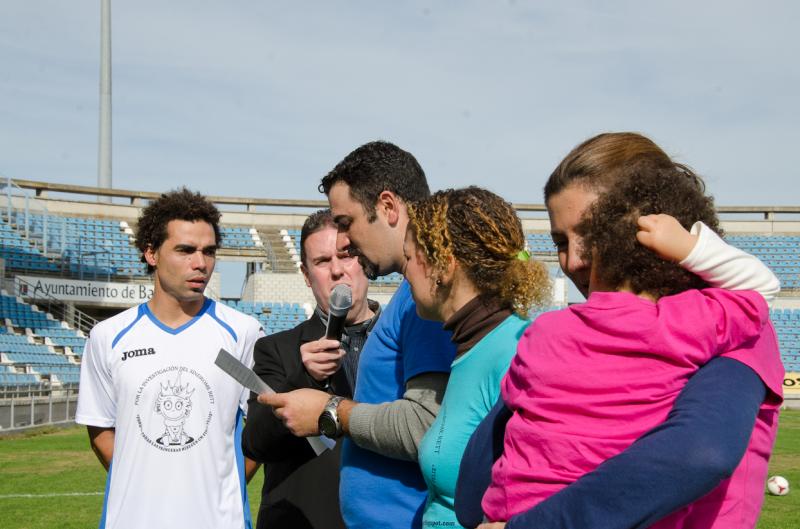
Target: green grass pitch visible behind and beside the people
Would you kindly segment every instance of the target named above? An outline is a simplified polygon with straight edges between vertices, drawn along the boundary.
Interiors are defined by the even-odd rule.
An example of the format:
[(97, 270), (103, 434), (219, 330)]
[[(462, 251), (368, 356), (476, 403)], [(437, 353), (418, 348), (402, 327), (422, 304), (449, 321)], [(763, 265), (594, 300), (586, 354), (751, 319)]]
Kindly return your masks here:
[[(784, 497), (767, 496), (759, 529), (800, 527), (800, 411), (784, 411), (770, 463), (796, 487)], [(260, 498), (262, 473), (248, 486)], [(105, 471), (89, 449), (85, 430), (51, 429), (0, 437), (0, 527), (85, 529), (97, 527)]]

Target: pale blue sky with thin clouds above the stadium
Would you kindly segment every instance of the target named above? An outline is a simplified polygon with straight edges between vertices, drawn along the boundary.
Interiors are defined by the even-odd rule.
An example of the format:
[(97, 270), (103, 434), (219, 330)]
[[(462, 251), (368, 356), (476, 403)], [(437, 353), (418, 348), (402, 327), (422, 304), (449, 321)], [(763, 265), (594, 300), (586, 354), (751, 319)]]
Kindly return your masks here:
[[(375, 139), (433, 188), (541, 203), (635, 130), (720, 205), (800, 205), (800, 3), (138, 0), (112, 6), (113, 186), (323, 198)], [(100, 1), (0, 2), (0, 175), (97, 184)]]

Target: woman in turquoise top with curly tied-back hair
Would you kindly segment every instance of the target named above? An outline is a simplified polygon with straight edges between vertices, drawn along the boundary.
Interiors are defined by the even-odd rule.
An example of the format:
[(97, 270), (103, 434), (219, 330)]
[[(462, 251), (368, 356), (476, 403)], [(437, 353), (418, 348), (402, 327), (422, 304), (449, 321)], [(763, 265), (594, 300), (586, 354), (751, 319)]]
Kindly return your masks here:
[(440, 191), (409, 208), (403, 253), (417, 312), (443, 321), (456, 344), (442, 407), (419, 447), (429, 491), (422, 525), (455, 527), (461, 455), (500, 396), (528, 311), (550, 299), (550, 282), (529, 258), (511, 204), (477, 187)]

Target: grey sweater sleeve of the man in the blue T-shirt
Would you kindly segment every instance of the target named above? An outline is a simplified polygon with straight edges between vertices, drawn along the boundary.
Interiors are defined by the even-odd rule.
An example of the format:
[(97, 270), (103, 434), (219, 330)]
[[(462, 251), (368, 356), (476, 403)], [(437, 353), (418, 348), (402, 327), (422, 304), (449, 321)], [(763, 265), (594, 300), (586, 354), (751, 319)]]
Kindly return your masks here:
[(350, 410), (350, 437), (367, 450), (416, 461), (422, 436), (439, 413), (448, 378), (447, 373), (423, 373), (409, 379), (402, 399), (357, 404)]

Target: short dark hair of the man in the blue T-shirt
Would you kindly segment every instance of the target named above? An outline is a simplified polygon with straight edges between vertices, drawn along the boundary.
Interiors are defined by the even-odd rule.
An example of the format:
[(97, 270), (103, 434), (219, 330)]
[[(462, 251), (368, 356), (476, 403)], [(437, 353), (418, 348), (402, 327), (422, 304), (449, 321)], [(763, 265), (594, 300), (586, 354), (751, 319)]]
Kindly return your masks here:
[(378, 218), (375, 203), (384, 191), (391, 191), (408, 204), (431, 194), (417, 159), (385, 141), (364, 144), (345, 156), (325, 175), (319, 190), (327, 195), (338, 182), (349, 186), (350, 195), (364, 208), (369, 222)]

